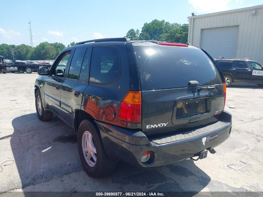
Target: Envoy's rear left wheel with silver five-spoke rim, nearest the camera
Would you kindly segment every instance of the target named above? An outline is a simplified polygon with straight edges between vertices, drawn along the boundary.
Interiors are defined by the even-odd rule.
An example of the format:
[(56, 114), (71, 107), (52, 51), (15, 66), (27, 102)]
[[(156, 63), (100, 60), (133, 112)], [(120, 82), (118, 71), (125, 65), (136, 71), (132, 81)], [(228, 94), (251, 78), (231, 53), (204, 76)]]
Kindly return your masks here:
[(83, 120), (77, 132), (77, 148), (83, 169), (94, 178), (101, 178), (115, 170), (116, 162), (105, 153), (99, 129), (95, 123)]

